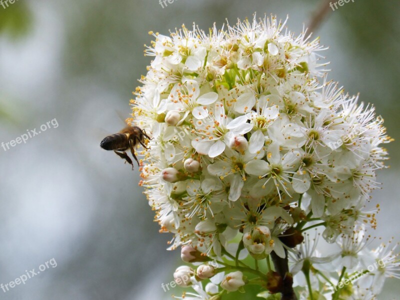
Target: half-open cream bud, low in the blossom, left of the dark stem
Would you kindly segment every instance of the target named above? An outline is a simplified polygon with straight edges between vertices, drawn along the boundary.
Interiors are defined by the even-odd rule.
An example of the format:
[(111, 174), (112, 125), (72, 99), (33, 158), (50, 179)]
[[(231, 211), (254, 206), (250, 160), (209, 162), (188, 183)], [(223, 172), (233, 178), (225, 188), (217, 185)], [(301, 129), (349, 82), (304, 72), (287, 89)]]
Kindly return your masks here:
[(264, 259), (273, 249), (271, 233), (266, 226), (257, 226), (243, 234), (244, 247), (255, 259)]

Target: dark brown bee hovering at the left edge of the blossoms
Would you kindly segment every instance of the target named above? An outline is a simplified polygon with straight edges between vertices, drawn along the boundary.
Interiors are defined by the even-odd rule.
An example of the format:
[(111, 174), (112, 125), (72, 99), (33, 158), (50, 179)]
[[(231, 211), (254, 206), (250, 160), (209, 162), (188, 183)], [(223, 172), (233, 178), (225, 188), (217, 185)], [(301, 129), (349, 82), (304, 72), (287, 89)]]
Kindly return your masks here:
[(125, 163), (131, 164), (133, 169), (132, 159), (126, 154), (126, 150), (130, 149), (130, 153), (132, 153), (134, 160), (139, 165), (139, 161), (134, 154), (134, 148), (138, 144), (141, 144), (144, 148), (148, 149), (144, 144), (144, 138), (151, 139), (141, 128), (126, 126), (118, 133), (104, 137), (100, 142), (100, 147), (104, 150), (113, 150), (115, 154), (126, 160)]

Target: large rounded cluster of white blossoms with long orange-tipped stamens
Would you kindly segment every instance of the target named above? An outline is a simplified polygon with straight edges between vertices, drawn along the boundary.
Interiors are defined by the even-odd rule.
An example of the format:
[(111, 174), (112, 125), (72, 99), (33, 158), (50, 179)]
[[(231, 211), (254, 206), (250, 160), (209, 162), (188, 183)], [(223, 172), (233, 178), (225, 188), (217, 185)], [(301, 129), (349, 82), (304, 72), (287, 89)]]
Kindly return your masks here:
[[(247, 268), (240, 260), (247, 254), (269, 262), (295, 252), (293, 263), (301, 266), (292, 272), (302, 270), (310, 283), (304, 231), (323, 226), (323, 238), (345, 253), (358, 243), (349, 238), (353, 232), (375, 227), (378, 206), (365, 211), (364, 204), (379, 187), (375, 171), (384, 167), (380, 144), (390, 139), (383, 120), (327, 80), (318, 39), (306, 31), (294, 36), (284, 25), (254, 16), (226, 29), (214, 25), (208, 34), (194, 25), (170, 36), (150, 32), (155, 41), (145, 54), (153, 59), (131, 100), (130, 122), (152, 136), (140, 184), (160, 231), (174, 234), (170, 249), (184, 246), (188, 262), (222, 263), (220, 271), (204, 264), (177, 271), (190, 273), (193, 299), (242, 289)], [(348, 256), (340, 255), (354, 267)], [(230, 268), (236, 271), (217, 282), (222, 292), (202, 289), (201, 280)], [(271, 293), (285, 285), (278, 273), (260, 275)], [(314, 283), (302, 290), (305, 298), (311, 287), (328, 292)]]

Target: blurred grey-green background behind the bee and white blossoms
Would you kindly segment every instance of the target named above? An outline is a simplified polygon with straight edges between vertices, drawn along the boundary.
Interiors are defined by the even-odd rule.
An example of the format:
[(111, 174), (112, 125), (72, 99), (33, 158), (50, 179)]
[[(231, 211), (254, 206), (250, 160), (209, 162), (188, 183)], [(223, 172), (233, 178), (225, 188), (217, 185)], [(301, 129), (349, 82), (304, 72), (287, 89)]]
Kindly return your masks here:
[[(194, 21), (207, 30), (225, 18), (289, 15), (299, 33), (319, 0), (17, 0), (0, 6), (0, 142), (8, 142), (52, 119), (58, 126), (0, 147), (0, 283), (51, 258), (57, 263), (0, 299), (167, 299), (180, 261), (166, 251), (153, 212), (132, 171), (99, 142), (127, 117), (131, 92), (151, 57), (149, 30)], [(400, 139), (400, 1), (355, 0), (323, 18), (315, 30), (339, 81), (374, 103), (388, 133)], [(372, 234), (400, 240), (400, 146), (387, 146), (391, 168), (380, 172), (383, 189)], [(179, 294), (178, 290), (173, 291)], [(379, 299), (399, 299), (388, 280)], [(254, 297), (248, 295), (247, 298)], [(244, 299), (244, 298), (243, 298)]]

